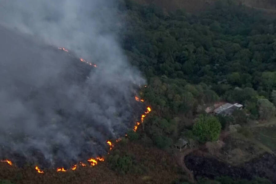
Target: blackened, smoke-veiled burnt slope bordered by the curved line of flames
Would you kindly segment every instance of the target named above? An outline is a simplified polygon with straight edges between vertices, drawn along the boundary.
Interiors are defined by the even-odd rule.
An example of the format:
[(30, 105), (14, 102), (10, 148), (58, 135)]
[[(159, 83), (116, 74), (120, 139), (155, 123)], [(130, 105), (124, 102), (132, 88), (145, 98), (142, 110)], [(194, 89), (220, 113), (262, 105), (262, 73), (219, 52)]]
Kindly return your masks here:
[(66, 167), (106, 154), (141, 114), (132, 69), (94, 68), (38, 38), (0, 27), (0, 159)]

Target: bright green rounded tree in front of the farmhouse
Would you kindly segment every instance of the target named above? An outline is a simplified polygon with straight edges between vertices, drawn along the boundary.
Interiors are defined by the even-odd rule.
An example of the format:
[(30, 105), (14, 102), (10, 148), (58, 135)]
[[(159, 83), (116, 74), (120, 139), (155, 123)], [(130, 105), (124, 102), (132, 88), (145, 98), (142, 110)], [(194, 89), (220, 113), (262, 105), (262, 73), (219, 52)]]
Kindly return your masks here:
[(199, 141), (215, 141), (219, 138), (221, 125), (219, 120), (211, 115), (201, 114), (193, 125), (193, 133)]

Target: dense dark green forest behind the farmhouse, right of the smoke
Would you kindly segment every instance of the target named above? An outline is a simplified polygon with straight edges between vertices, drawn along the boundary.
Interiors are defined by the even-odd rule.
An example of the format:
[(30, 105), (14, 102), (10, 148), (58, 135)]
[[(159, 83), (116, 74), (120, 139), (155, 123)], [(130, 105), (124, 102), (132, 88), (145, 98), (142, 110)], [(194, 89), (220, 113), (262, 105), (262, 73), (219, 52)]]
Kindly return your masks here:
[(274, 115), (273, 17), (229, 1), (218, 1), (197, 15), (164, 13), (128, 0), (119, 9), (127, 22), (119, 32), (121, 45), (148, 80), (141, 97), (155, 111), (144, 132), (156, 145), (169, 146), (207, 105), (219, 100), (243, 104), (239, 118)]

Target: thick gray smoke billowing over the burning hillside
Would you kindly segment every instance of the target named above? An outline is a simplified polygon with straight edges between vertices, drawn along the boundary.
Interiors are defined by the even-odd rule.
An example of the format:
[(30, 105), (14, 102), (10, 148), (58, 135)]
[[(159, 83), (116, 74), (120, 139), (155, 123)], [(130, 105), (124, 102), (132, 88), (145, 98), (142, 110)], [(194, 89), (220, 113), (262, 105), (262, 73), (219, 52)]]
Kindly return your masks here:
[(132, 127), (144, 79), (117, 43), (117, 17), (108, 0), (0, 1), (0, 158), (79, 161)]

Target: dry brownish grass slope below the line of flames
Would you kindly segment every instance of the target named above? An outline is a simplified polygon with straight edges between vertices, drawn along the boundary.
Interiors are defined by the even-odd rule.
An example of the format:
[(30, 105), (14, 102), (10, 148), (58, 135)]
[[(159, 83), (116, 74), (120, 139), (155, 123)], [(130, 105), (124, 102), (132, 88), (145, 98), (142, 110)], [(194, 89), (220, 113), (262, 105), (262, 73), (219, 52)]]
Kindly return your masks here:
[[(111, 170), (108, 163), (102, 162), (94, 167), (82, 167), (75, 171), (56, 172), (53, 169), (38, 174), (34, 167), (17, 168), (6, 163), (0, 163), (0, 179), (9, 179), (16, 184), (40, 183), (171, 183), (178, 174), (175, 161), (170, 154), (157, 148), (145, 148), (140, 144), (128, 143), (115, 145), (120, 150), (135, 155), (136, 162), (143, 165), (145, 171), (141, 174), (118, 174)], [(158, 177), (157, 177), (158, 176)]]

